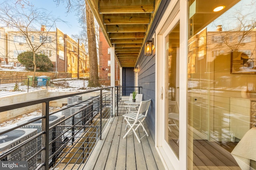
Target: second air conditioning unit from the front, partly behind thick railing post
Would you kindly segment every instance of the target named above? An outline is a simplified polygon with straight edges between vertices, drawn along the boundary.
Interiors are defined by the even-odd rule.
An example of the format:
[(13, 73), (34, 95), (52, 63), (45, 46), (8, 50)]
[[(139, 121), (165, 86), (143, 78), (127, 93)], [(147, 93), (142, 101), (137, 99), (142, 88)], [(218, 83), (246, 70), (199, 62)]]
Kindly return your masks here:
[[(38, 117), (41, 116), (36, 116), (32, 119), (26, 120), (26, 121), (22, 121), (20, 123), (17, 123), (17, 125), (22, 125), (28, 121), (32, 121), (34, 119), (37, 119)], [(49, 127), (58, 124), (58, 122), (64, 120), (65, 116), (64, 115), (50, 115), (49, 116)], [(64, 125), (64, 122), (62, 122), (60, 125)], [(22, 129), (37, 129), (37, 133), (40, 133), (42, 131), (42, 119), (38, 120), (38, 121), (34, 121), (33, 123), (30, 123), (28, 125), (22, 126), (20, 127)], [(59, 137), (62, 134), (62, 131), (64, 130), (63, 127), (60, 126), (56, 126), (52, 129), (49, 129), (49, 143), (58, 138), (54, 143), (52, 143), (52, 145), (49, 146), (49, 156), (52, 155), (52, 153), (54, 153), (56, 150), (58, 150), (61, 145), (62, 145), (62, 139), (61, 137)], [(41, 149), (41, 145), (42, 145), (42, 137), (38, 137), (38, 148)], [(39, 157), (41, 157), (41, 153), (38, 154)]]

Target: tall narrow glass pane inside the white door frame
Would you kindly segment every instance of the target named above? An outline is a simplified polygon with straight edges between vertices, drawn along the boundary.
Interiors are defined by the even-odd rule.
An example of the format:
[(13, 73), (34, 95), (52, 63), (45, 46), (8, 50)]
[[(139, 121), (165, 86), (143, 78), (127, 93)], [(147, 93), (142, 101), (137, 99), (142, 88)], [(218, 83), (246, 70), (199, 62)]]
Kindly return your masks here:
[(179, 155), (180, 23), (165, 37), (165, 141)]

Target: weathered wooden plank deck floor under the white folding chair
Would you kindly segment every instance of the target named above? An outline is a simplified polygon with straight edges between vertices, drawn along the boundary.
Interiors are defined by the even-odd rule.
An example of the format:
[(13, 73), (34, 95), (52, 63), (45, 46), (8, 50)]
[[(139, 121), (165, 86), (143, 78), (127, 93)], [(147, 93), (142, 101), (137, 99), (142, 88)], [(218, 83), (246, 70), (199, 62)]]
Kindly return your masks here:
[[(91, 153), (86, 170), (163, 170), (164, 165), (154, 147), (152, 137), (145, 136), (139, 143), (133, 133), (123, 139), (126, 123), (122, 115), (110, 120)], [(147, 128), (146, 128), (147, 129)], [(137, 131), (138, 132), (138, 131)], [(143, 135), (139, 128), (139, 135)]]

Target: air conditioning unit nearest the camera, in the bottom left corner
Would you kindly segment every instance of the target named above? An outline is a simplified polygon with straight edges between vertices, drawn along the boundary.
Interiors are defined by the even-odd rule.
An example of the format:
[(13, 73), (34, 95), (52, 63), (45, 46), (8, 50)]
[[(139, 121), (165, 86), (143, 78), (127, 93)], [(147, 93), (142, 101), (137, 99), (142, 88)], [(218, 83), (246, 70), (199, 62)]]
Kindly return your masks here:
[[(7, 129), (0, 129), (0, 132)], [(23, 141), (33, 137), (37, 134), (36, 129), (15, 129), (13, 131), (0, 135), (0, 155), (5, 154), (8, 150), (19, 145)], [(20, 149), (10, 153), (2, 161), (26, 161), (28, 160), (28, 169), (34, 170), (37, 166), (37, 156), (32, 157), (36, 154), (37, 139), (34, 139), (22, 146)], [(31, 158), (32, 157), (32, 158)], [(31, 158), (31, 159), (30, 159)]]

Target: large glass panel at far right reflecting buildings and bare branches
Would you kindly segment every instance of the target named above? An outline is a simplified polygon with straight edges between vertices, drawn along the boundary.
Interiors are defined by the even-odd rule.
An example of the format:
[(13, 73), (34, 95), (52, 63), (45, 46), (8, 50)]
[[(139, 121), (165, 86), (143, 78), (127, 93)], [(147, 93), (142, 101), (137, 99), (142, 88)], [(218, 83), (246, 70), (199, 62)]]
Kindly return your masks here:
[(188, 9), (188, 169), (255, 169), (256, 1)]

